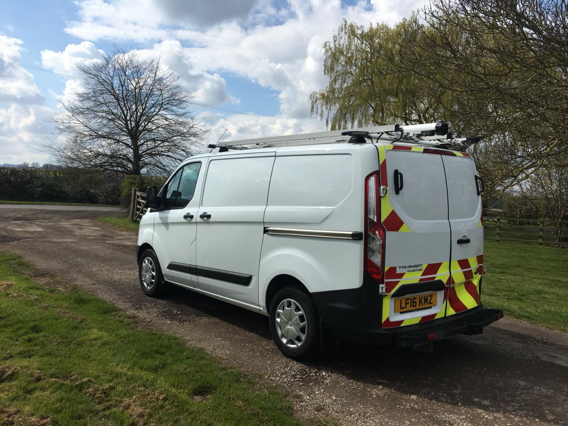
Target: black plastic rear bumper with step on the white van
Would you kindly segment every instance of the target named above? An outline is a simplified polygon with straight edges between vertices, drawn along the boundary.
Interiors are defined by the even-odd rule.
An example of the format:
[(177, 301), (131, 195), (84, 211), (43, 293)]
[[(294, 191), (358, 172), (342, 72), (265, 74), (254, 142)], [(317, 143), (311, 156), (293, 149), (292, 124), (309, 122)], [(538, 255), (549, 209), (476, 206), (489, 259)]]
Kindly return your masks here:
[(480, 334), (484, 327), (503, 318), (503, 311), (480, 304), (425, 323), (382, 328), (383, 296), (376, 287), (365, 279), (358, 289), (312, 293), (324, 327), (339, 339), (404, 348), (461, 334)]

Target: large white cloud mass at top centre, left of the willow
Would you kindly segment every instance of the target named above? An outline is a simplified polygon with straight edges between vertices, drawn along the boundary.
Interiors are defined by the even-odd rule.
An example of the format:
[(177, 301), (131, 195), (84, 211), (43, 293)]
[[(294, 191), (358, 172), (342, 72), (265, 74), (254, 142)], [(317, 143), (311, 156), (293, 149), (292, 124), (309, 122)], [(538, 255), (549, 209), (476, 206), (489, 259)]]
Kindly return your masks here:
[[(327, 83), (322, 45), (332, 39), (341, 19), (360, 24), (393, 24), (424, 3), (371, 0), (344, 6), (340, 0), (289, 0), (286, 7), (278, 9), (277, 3), (265, 0), (247, 12), (246, 22), (235, 16), (229, 19), (229, 12), (229, 18), (199, 30), (172, 24), (172, 10), (182, 7), (178, 0), (169, 0), (160, 7), (157, 0), (141, 3), (140, 9), (151, 12), (153, 20), (148, 15), (141, 17), (140, 11), (124, 17), (127, 0), (105, 3), (106, 6), (101, 6), (101, 1), (78, 3), (82, 20), (72, 23), (67, 31), (87, 39), (165, 40), (146, 52), (160, 52), (165, 64), (194, 84), (199, 99), (209, 99), (211, 103), (221, 99), (226, 90), (221, 75), (230, 72), (279, 91), (278, 116), (302, 122), (310, 119), (310, 94)], [(123, 16), (124, 21), (114, 23), (111, 14)], [(105, 28), (101, 26), (103, 22)], [(168, 52), (173, 52), (173, 56)], [(282, 131), (268, 120), (266, 123), (274, 132)]]

